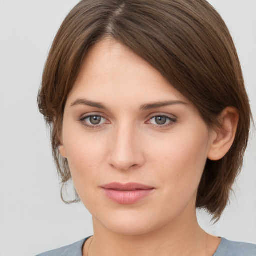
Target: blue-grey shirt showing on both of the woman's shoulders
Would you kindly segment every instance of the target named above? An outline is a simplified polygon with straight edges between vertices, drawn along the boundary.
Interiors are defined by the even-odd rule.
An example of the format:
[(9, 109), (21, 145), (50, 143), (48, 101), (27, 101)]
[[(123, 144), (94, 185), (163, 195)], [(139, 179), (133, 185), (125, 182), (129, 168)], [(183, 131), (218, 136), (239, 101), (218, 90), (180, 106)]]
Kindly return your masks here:
[[(37, 256), (82, 256), (82, 246), (88, 239), (82, 239), (73, 244), (41, 253)], [(256, 244), (233, 242), (221, 238), (221, 242), (213, 256), (256, 256)]]

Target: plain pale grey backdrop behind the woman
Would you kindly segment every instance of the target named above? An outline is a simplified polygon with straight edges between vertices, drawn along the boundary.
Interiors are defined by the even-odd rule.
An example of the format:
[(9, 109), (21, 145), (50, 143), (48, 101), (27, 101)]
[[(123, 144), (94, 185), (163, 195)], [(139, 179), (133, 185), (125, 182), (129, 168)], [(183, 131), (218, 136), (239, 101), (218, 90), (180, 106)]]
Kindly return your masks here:
[[(37, 91), (54, 35), (78, 0), (0, 0), (0, 256), (32, 256), (93, 233), (81, 203), (59, 196)], [(256, 117), (256, 1), (211, 0), (237, 47)], [(212, 234), (256, 243), (256, 140), (252, 132), (235, 196)]]

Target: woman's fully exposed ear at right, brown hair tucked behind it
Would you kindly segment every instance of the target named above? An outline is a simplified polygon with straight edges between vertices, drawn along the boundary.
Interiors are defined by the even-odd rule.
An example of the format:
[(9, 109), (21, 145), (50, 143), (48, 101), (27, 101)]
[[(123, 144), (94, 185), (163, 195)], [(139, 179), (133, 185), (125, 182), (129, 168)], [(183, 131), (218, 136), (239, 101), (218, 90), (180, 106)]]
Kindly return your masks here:
[(220, 113), (220, 127), (213, 131), (208, 159), (219, 160), (228, 152), (235, 138), (238, 120), (239, 114), (233, 107), (226, 107)]

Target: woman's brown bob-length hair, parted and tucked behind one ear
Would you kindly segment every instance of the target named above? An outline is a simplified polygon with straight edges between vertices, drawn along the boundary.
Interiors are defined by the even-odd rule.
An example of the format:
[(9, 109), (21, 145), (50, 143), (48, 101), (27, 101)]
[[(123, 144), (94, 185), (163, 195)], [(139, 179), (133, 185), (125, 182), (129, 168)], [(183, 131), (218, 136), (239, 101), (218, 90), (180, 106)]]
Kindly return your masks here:
[[(62, 188), (71, 180), (58, 150), (65, 102), (88, 50), (105, 37), (157, 69), (194, 103), (209, 128), (220, 126), (218, 115), (225, 107), (237, 109), (234, 142), (222, 159), (207, 159), (197, 193), (196, 207), (218, 220), (242, 166), (252, 115), (233, 40), (206, 0), (82, 0), (69, 12), (49, 51), (38, 93)], [(76, 196), (68, 202), (79, 201)]]

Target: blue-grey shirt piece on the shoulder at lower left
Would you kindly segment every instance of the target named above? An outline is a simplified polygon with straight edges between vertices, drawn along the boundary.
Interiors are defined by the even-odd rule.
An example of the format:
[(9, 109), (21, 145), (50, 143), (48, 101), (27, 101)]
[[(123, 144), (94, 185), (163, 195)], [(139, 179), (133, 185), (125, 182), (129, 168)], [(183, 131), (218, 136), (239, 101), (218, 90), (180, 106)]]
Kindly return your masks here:
[(89, 237), (58, 249), (43, 252), (36, 256), (82, 256), (82, 246), (88, 238)]

